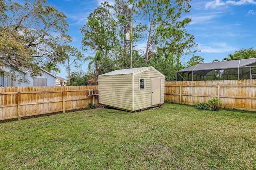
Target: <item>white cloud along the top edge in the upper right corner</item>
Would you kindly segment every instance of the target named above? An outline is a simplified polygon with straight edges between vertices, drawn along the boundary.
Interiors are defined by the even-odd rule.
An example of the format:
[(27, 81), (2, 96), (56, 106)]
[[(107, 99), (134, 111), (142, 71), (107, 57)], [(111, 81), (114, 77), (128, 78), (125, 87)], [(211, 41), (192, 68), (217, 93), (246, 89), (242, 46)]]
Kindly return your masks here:
[(222, 0), (214, 0), (211, 2), (206, 3), (205, 8), (216, 8), (219, 6), (228, 6), (228, 5), (256, 5), (256, 2), (254, 0), (227, 0), (227, 1), (222, 1)]

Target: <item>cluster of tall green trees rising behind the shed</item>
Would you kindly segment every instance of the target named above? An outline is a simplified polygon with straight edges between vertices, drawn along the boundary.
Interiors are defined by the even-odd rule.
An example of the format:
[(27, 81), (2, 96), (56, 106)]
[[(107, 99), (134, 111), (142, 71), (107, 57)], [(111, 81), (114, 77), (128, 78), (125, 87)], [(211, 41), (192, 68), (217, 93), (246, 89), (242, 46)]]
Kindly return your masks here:
[[(101, 62), (105, 64), (97, 75), (113, 68), (113, 63), (113, 69), (130, 68), (132, 53), (132, 67), (151, 65), (167, 75), (166, 79), (174, 80), (172, 74), (184, 67), (182, 57), (198, 51), (194, 36), (186, 31), (191, 19), (182, 17), (189, 12), (190, 1), (115, 0), (113, 6), (102, 3), (80, 29), (83, 49), (102, 51), (102, 58), (108, 61)], [(146, 44), (145, 51), (136, 48), (136, 42)], [(95, 57), (87, 59), (96, 63)]]

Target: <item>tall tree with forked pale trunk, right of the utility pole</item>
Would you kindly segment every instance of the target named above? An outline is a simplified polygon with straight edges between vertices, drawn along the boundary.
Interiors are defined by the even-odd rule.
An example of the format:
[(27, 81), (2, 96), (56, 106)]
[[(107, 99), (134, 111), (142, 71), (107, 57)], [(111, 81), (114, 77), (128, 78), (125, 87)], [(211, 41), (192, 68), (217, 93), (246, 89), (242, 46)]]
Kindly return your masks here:
[(191, 22), (190, 18), (181, 19), (181, 14), (189, 12), (190, 0), (138, 0), (137, 7), (148, 25), (146, 32), (146, 54), (144, 62), (147, 63), (155, 51), (162, 48), (162, 53), (171, 53), (176, 65), (181, 67), (180, 57), (189, 53), (196, 47), (194, 36), (188, 34), (185, 27)]

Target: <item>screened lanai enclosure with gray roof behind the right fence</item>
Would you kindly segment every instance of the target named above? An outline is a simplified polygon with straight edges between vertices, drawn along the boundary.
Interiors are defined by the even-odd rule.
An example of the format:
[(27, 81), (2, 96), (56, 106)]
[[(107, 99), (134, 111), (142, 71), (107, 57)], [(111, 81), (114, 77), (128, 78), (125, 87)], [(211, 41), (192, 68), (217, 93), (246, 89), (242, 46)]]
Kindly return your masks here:
[(256, 58), (202, 63), (176, 72), (176, 81), (256, 79)]

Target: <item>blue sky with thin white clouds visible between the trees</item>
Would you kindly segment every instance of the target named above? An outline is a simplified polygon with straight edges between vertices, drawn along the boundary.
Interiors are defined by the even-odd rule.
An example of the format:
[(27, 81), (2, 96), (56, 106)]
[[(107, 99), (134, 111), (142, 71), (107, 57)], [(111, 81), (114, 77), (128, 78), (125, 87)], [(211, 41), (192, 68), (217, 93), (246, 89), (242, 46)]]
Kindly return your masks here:
[[(78, 49), (82, 46), (80, 28), (86, 24), (88, 15), (100, 6), (102, 0), (48, 0), (48, 3), (64, 12), (70, 25), (68, 34), (72, 36), (71, 45)], [(108, 0), (114, 4), (114, 0)], [(240, 49), (253, 47), (256, 49), (256, 0), (192, 0), (190, 12), (183, 17), (192, 19), (186, 27), (189, 34), (194, 36), (200, 52), (195, 53), (204, 58), (204, 63), (214, 59), (220, 61), (228, 54)], [(145, 43), (138, 43), (138, 48), (145, 48)], [(80, 49), (82, 51), (82, 49)], [(85, 56), (93, 55), (82, 51)], [(193, 55), (185, 56), (188, 61)], [(82, 70), (87, 72), (88, 62)], [(60, 77), (68, 74), (63, 66), (59, 66)], [(72, 71), (76, 71), (73, 70)]]

